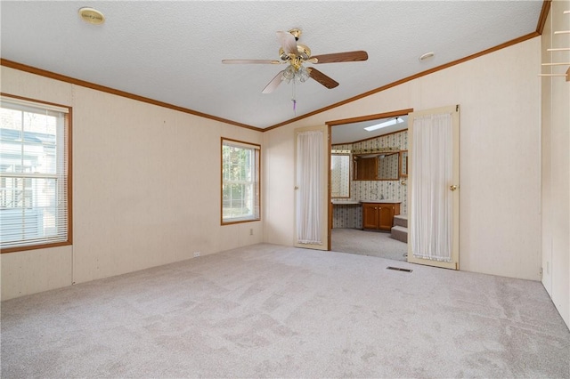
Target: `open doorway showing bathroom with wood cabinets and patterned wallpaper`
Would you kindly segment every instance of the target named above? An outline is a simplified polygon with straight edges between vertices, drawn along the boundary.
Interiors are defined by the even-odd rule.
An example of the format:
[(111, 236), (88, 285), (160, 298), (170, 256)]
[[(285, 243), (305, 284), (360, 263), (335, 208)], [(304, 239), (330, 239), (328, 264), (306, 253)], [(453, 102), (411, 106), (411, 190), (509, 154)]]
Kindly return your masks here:
[[(331, 250), (406, 261), (407, 234), (407, 115), (413, 109), (401, 109), (364, 117), (330, 121), (330, 212)], [(378, 126), (379, 125), (379, 126)], [(338, 166), (336, 157), (343, 155), (348, 163)], [(346, 158), (348, 156), (348, 158)], [(335, 159), (333, 159), (333, 157)], [(387, 165), (391, 162), (392, 166)], [(357, 170), (361, 172), (358, 173)], [(366, 171), (363, 173), (366, 165)], [(346, 168), (348, 165), (348, 168)], [(372, 167), (372, 168), (371, 168)], [(338, 183), (342, 180), (342, 183)], [(344, 190), (342, 190), (344, 189)], [(373, 202), (364, 210), (364, 204)], [(392, 202), (385, 205), (383, 202)], [(362, 203), (364, 202), (364, 203)], [(380, 210), (384, 206), (383, 210)], [(389, 208), (389, 209), (388, 209)], [(397, 210), (396, 210), (397, 208)], [(394, 220), (403, 236), (390, 229)], [(379, 215), (370, 214), (378, 212)], [(366, 214), (366, 225), (363, 218)], [(392, 216), (389, 215), (391, 212)], [(381, 214), (381, 215), (380, 215)], [(382, 217), (379, 227), (370, 225), (374, 217)], [(366, 226), (366, 227), (365, 227)], [(397, 225), (396, 225), (397, 226)]]

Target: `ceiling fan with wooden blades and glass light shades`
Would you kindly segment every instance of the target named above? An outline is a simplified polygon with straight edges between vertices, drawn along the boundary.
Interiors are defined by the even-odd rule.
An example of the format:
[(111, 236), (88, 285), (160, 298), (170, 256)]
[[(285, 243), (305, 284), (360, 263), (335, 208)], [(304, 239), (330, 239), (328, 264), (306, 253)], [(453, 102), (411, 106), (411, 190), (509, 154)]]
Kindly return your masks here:
[[(305, 44), (297, 44), (301, 30), (298, 28), (290, 29), (288, 32), (278, 31), (277, 38), (281, 43), (279, 49), (279, 60), (222, 60), (225, 64), (282, 64), (289, 63), (287, 69), (281, 70), (269, 84), (265, 85), (262, 93), (272, 93), (281, 82), (286, 80), (288, 83), (293, 81), (305, 82), (309, 77), (316, 80), (325, 87), (331, 89), (338, 85), (334, 79), (327, 77), (321, 71), (313, 68), (305, 68), (305, 62), (320, 63), (338, 63), (352, 62), (358, 60), (368, 60), (368, 53), (364, 51), (356, 52), (335, 52), (331, 54), (311, 55), (311, 49)], [(293, 100), (295, 102), (295, 100)]]

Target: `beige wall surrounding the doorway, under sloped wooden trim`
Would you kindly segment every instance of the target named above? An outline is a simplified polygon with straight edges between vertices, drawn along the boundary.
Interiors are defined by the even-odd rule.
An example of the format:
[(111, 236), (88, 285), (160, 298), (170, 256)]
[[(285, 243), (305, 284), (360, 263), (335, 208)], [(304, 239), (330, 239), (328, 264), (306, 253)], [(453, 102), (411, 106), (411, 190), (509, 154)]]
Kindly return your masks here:
[(264, 133), (265, 241), (293, 244), (296, 127), (460, 104), (460, 268), (539, 280), (540, 45), (536, 37)]

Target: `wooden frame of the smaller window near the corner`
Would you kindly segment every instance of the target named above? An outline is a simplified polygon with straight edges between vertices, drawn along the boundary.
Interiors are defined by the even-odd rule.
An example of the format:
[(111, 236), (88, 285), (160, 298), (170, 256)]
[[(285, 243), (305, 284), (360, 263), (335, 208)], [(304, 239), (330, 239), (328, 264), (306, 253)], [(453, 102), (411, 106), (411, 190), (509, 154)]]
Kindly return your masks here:
[[(224, 145), (236, 147), (236, 148), (243, 148), (243, 149), (252, 149), (255, 153), (255, 164), (256, 167), (254, 170), (256, 171), (256, 180), (252, 182), (252, 185), (255, 189), (254, 194), (254, 206), (256, 207), (256, 212), (249, 216), (249, 217), (233, 217), (233, 218), (225, 218), (224, 219)], [(220, 224), (221, 225), (232, 225), (236, 223), (242, 222), (258, 222), (261, 221), (261, 145), (257, 143), (247, 142), (247, 141), (239, 141), (233, 140), (231, 138), (221, 138), (220, 144)]]

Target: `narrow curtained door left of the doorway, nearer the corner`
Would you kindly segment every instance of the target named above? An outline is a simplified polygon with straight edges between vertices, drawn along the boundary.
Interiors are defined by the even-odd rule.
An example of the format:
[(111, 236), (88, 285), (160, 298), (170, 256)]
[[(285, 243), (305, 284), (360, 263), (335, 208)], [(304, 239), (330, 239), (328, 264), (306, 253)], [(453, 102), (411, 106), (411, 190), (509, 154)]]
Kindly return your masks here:
[(295, 242), (329, 250), (329, 126), (295, 129)]

